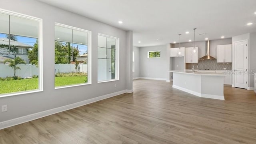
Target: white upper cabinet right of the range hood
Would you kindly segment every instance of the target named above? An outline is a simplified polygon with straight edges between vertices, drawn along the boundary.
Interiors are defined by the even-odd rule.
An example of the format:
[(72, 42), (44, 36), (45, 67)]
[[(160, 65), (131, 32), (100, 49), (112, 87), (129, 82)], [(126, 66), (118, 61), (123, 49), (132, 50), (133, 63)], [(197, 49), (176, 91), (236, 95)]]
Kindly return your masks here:
[(232, 44), (217, 46), (217, 62), (232, 62)]

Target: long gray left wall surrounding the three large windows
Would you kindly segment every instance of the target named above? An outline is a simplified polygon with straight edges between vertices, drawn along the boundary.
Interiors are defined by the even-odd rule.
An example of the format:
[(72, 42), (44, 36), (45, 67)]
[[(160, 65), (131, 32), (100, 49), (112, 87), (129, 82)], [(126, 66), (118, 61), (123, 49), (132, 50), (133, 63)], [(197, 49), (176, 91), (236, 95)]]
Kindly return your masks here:
[[(8, 105), (7, 112), (0, 112), (0, 122), (65, 106), (105, 94), (131, 88), (130, 55), (132, 33), (98, 21), (67, 12), (35, 0), (2, 0), (1, 8), (43, 19), (43, 92), (0, 98), (0, 106)], [(92, 84), (54, 89), (54, 23), (58, 22), (92, 31)], [(97, 34), (120, 38), (120, 80), (98, 83), (97, 81)], [(128, 40), (129, 39), (129, 40)], [(129, 43), (129, 44), (127, 44)], [(127, 50), (129, 49), (129, 50)], [(127, 76), (128, 75), (128, 76)], [(130, 77), (130, 78), (129, 78)], [(116, 84), (116, 88), (114, 88)]]

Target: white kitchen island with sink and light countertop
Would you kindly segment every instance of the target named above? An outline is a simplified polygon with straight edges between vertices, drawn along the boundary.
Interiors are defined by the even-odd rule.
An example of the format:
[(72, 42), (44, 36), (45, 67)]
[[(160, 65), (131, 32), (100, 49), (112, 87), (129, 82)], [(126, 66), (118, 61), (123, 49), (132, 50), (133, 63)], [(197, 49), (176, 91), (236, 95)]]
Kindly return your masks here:
[(172, 87), (203, 98), (224, 100), (224, 74), (170, 70)]

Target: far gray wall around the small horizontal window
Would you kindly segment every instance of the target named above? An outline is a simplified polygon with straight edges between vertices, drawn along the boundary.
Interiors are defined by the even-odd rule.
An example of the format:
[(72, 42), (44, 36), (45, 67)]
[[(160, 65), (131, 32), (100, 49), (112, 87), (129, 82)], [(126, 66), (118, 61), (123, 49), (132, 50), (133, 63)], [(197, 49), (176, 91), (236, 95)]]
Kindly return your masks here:
[[(166, 45), (150, 46), (140, 49), (140, 77), (166, 79)], [(148, 51), (160, 50), (160, 58), (148, 58)]]

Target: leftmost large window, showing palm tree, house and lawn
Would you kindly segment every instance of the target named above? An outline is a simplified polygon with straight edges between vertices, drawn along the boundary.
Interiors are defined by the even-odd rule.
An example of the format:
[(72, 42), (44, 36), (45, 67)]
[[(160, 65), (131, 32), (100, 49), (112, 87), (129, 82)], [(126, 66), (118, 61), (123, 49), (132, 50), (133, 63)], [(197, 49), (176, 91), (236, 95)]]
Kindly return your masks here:
[(0, 10), (0, 97), (42, 90), (41, 21)]

